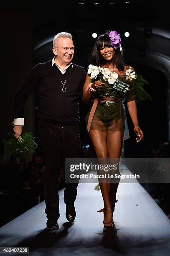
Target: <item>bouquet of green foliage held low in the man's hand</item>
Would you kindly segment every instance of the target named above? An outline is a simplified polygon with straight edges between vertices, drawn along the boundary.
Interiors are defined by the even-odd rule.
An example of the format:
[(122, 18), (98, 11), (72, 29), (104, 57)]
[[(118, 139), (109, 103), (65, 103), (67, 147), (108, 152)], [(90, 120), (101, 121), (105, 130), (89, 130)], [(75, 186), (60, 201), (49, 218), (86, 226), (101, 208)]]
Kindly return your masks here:
[[(12, 124), (14, 126), (14, 122)], [(7, 139), (1, 141), (6, 147), (5, 155), (25, 159), (28, 154), (32, 154), (38, 147), (34, 138), (32, 132), (25, 132), (18, 139), (14, 137), (13, 133), (8, 133)]]

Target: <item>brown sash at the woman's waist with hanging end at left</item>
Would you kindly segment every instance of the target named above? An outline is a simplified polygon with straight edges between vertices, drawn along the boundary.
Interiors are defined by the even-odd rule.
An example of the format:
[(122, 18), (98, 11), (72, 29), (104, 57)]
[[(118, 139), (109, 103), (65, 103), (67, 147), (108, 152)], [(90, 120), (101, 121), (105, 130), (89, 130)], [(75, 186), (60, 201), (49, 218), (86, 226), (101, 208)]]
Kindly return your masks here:
[[(89, 119), (88, 119), (88, 123), (87, 123), (87, 131), (90, 132), (90, 127), (91, 127), (91, 123), (94, 117), (94, 113), (96, 111), (97, 108), (97, 104), (98, 104), (99, 99), (95, 98), (94, 102), (93, 102), (93, 106), (91, 108), (90, 114), (89, 114)], [(115, 97), (102, 97), (100, 102), (104, 103), (106, 101), (117, 101), (117, 102), (122, 102), (122, 99), (120, 98), (115, 98)]]

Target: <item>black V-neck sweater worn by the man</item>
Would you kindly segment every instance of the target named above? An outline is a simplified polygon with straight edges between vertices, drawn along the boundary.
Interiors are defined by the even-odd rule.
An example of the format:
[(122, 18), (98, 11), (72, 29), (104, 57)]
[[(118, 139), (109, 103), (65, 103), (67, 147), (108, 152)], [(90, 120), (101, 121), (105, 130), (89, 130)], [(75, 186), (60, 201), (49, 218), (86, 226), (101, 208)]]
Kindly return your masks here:
[[(24, 105), (28, 96), (36, 90), (38, 96), (37, 117), (51, 123), (78, 123), (79, 93), (82, 92), (86, 72), (83, 67), (70, 65), (64, 74), (51, 61), (37, 64), (30, 71), (15, 95), (15, 118), (24, 117)], [(66, 79), (66, 92), (62, 92)]]

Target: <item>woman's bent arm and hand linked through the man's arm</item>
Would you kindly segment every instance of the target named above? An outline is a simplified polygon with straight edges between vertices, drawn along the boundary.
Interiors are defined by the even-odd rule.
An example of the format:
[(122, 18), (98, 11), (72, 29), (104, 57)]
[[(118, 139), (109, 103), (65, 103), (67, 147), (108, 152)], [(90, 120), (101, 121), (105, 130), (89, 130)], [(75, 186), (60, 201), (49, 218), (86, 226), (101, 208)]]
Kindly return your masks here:
[(99, 90), (102, 86), (101, 81), (95, 81), (93, 84), (91, 84), (91, 88), (92, 91), (89, 90), (89, 84), (90, 84), (90, 75), (86, 74), (86, 81), (84, 83), (84, 87), (83, 87), (83, 98), (82, 101), (84, 104), (87, 104), (91, 101), (92, 96), (94, 95), (94, 93)]

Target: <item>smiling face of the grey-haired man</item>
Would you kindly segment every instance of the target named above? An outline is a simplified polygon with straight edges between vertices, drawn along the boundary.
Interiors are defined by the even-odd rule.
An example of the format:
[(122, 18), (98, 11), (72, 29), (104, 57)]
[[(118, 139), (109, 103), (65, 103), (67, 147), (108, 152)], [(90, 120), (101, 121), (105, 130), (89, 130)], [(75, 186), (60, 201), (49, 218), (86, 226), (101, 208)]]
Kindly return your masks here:
[(58, 38), (53, 47), (53, 53), (56, 55), (58, 64), (68, 65), (74, 56), (73, 41), (70, 38)]

